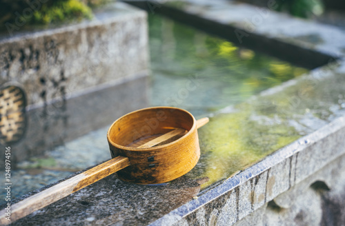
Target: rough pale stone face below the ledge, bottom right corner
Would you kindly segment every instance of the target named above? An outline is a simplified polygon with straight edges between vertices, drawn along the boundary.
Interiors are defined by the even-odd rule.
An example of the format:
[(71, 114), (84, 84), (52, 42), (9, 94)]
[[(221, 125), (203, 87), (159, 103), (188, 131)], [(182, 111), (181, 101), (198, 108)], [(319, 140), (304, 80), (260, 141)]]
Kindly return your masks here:
[(235, 225), (344, 225), (344, 163), (342, 155)]

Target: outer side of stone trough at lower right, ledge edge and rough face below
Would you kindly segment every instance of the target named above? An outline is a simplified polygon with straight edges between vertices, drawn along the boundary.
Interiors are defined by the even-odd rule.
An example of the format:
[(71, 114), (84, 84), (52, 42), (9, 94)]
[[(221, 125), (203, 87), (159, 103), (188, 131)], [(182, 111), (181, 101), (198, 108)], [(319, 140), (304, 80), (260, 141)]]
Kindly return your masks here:
[[(312, 144), (326, 144), (328, 142), (332, 143), (334, 138), (339, 138), (342, 141), (339, 141), (337, 144), (344, 147), (344, 125), (345, 118), (342, 117), (309, 135), (308, 139)], [(277, 222), (279, 225), (291, 225), (291, 219), (295, 220), (293, 223), (297, 225), (306, 225), (306, 223), (311, 225), (328, 225), (334, 222), (342, 225), (344, 221), (341, 220), (344, 216), (342, 214), (340, 216), (335, 215), (339, 212), (339, 209), (345, 208), (345, 174), (344, 170), (342, 170), (345, 165), (343, 163), (345, 161), (344, 148), (342, 148), (342, 152), (328, 156), (328, 163), (320, 164), (318, 169), (316, 169), (313, 167), (314, 157), (308, 156), (304, 158), (301, 157), (302, 153), (311, 152), (317, 158), (317, 155), (322, 155), (322, 151), (325, 151), (325, 149), (315, 150), (311, 149), (315, 145), (299, 146), (296, 143), (284, 147), (284, 149), (270, 156), (271, 158), (264, 159), (264, 161), (248, 168), (243, 173), (229, 178), (222, 185), (208, 192), (208, 194), (200, 196), (197, 201), (190, 201), (163, 218), (156, 220), (152, 225), (179, 225), (180, 223), (203, 225), (202, 222), (210, 225), (207, 222), (209, 223), (211, 218), (215, 225), (233, 225), (237, 220), (239, 221), (235, 225), (253, 225), (253, 223), (257, 225), (277, 225)], [(336, 150), (337, 144), (332, 146), (330, 143), (328, 143), (327, 148)], [(293, 156), (299, 156), (299, 161), (303, 163), (304, 169), (308, 168), (308, 176), (302, 171), (295, 170), (296, 174), (293, 176), (296, 178), (296, 181), (293, 187), (289, 187), (289, 176), (286, 176), (286, 173), (290, 174), (291, 172), (289, 165), (290, 159), (293, 159), (290, 156), (291, 151), (294, 153)], [(315, 153), (317, 151), (319, 153)], [(284, 156), (284, 153), (286, 156)], [(271, 166), (269, 167), (268, 165)], [(284, 165), (287, 165), (288, 168), (286, 169)], [(298, 169), (301, 165), (292, 165), (291, 169), (293, 167)], [(253, 172), (255, 169), (261, 169), (262, 172), (256, 177), (253, 174), (253, 176), (248, 178), (248, 181), (239, 182), (236, 180), (236, 178), (241, 177), (241, 174), (248, 174), (248, 172)], [(260, 183), (259, 181), (262, 178), (266, 178), (265, 176), (267, 176), (265, 183)], [(257, 180), (258, 183), (253, 189), (253, 184)], [(230, 181), (236, 181), (236, 183), (230, 183)], [(323, 181), (326, 181), (326, 183)], [(317, 191), (320, 191), (320, 189), (327, 190), (327, 185), (330, 185), (331, 191), (322, 193), (322, 196), (315, 191), (308, 190), (309, 187), (317, 189)], [(221, 190), (223, 192), (219, 194)], [(229, 194), (235, 197), (230, 198)], [(255, 203), (253, 197), (255, 196), (264, 196), (264, 202), (261, 205), (255, 205), (258, 208), (257, 211), (255, 211), (256, 208), (254, 209), (253, 205)], [(270, 201), (271, 199), (273, 201)], [(233, 203), (234, 205), (228, 205), (227, 203)], [(181, 214), (181, 210), (186, 207), (190, 213)], [(280, 210), (286, 207), (288, 208), (287, 210)], [(330, 213), (332, 214), (331, 216), (329, 216)], [(315, 214), (319, 217), (315, 218)], [(227, 218), (224, 218), (224, 216), (227, 216)], [(170, 221), (170, 219), (174, 220)]]

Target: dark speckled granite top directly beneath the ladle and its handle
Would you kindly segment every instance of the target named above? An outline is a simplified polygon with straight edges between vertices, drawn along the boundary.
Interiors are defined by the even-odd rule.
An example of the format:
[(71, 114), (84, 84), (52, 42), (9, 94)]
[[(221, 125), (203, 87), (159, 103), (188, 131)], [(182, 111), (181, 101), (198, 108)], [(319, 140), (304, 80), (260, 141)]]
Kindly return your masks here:
[(199, 189), (184, 176), (165, 185), (135, 185), (111, 175), (12, 225), (147, 225), (190, 201)]

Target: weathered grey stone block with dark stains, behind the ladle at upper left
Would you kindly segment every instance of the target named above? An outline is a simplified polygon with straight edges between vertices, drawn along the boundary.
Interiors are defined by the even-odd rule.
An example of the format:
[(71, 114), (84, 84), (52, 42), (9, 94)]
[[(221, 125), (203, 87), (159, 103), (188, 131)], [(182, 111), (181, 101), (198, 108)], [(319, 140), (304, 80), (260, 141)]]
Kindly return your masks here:
[(91, 21), (0, 37), (0, 83), (21, 83), (29, 105), (147, 69), (146, 12), (124, 3)]

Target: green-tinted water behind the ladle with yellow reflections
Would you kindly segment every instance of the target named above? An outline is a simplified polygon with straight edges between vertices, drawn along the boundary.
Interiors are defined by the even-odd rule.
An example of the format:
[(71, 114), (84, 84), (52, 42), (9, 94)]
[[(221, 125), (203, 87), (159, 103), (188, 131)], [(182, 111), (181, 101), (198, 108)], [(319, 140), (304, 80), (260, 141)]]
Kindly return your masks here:
[(306, 72), (186, 25), (150, 15), (152, 105), (215, 112)]

